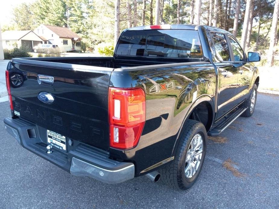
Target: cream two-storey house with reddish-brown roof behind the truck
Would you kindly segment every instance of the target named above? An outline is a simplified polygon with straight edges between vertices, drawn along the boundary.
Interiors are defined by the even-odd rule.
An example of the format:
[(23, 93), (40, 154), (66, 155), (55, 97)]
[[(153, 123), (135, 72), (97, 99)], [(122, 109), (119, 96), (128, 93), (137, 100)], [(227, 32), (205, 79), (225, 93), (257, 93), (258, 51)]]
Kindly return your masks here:
[(33, 31), (45, 44), (58, 45), (60, 51), (81, 50), (81, 37), (66, 27), (41, 24)]

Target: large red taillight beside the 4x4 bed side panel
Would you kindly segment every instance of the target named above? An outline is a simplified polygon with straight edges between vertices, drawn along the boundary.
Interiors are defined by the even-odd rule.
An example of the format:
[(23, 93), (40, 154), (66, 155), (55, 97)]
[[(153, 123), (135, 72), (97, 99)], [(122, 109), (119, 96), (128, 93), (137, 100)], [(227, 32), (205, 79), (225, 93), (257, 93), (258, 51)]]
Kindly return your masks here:
[(145, 93), (141, 88), (109, 88), (110, 147), (135, 147), (145, 123)]

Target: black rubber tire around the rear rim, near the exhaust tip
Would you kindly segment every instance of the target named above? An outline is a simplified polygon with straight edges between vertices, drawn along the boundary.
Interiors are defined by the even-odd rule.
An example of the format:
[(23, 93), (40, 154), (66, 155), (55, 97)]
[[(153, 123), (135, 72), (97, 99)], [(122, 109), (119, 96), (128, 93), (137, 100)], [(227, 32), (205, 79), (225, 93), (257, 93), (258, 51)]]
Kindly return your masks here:
[[(186, 154), (190, 147), (191, 141), (194, 136), (200, 134), (203, 140), (203, 148), (200, 164), (198, 169), (191, 178), (186, 178), (185, 176), (185, 166), (186, 166)], [(186, 190), (189, 189), (197, 180), (202, 165), (204, 163), (204, 158), (206, 154), (207, 147), (207, 132), (202, 123), (195, 120), (188, 120), (187, 125), (179, 138), (179, 144), (176, 150), (174, 160), (167, 164), (159, 170), (161, 173), (161, 179), (164, 183), (174, 189)]]

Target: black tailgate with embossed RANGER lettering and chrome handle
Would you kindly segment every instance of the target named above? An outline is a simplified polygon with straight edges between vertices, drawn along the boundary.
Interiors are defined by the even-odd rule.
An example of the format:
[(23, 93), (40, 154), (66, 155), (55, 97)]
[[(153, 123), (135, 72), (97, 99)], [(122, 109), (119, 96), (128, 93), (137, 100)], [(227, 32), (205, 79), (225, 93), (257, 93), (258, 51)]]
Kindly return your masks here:
[[(109, 149), (108, 87), (113, 68), (13, 59), (8, 70), (14, 111), (20, 118)], [(18, 80), (20, 76), (23, 79)], [(50, 79), (39, 79), (44, 76)], [(54, 101), (41, 101), (42, 92)]]

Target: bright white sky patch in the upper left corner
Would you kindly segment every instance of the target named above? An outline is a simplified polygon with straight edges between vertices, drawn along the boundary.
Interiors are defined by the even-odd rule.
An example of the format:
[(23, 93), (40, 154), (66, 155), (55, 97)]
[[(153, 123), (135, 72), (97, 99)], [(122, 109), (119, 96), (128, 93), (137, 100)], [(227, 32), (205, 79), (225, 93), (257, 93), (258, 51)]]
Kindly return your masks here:
[(32, 3), (35, 0), (1, 0), (0, 24), (7, 25), (12, 20), (13, 8), (21, 3)]

